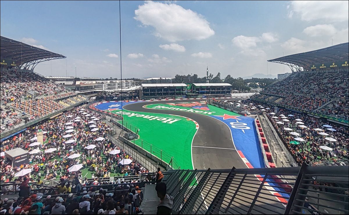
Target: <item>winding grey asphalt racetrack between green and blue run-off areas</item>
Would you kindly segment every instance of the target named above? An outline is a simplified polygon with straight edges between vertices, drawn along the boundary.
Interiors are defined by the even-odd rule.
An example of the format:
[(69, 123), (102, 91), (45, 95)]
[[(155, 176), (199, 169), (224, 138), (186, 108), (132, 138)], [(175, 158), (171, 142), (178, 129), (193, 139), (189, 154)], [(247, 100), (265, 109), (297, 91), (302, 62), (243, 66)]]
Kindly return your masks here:
[[(200, 101), (202, 100), (190, 100), (187, 102)], [(135, 102), (124, 105), (123, 108), (125, 110), (137, 112), (174, 114), (195, 120), (199, 124), (199, 129), (194, 136), (192, 144), (194, 169), (231, 169), (233, 166), (238, 169), (247, 168), (235, 149), (230, 128), (221, 121), (198, 113), (154, 110), (142, 107), (146, 104), (163, 104), (170, 102), (179, 103), (185, 101)]]

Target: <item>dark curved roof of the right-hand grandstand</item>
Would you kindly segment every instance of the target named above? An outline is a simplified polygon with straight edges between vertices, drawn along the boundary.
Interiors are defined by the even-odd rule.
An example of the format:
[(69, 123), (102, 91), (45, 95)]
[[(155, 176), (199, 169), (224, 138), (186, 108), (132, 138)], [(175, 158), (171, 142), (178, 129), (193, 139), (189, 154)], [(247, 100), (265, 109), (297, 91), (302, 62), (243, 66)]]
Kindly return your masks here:
[[(292, 71), (302, 71), (301, 67), (305, 71), (313, 69), (316, 67), (313, 65), (320, 65), (329, 62), (341, 62), (347, 61), (349, 52), (348, 52), (349, 43), (341, 43), (338, 45), (330, 46), (323, 49), (318, 49), (314, 51), (291, 54), (280, 58), (275, 58), (268, 60), (269, 62), (277, 62), (280, 64), (285, 64), (291, 67)], [(318, 67), (320, 68), (320, 67)], [(318, 69), (315, 68), (315, 69)], [(329, 68), (329, 67), (324, 67)]]

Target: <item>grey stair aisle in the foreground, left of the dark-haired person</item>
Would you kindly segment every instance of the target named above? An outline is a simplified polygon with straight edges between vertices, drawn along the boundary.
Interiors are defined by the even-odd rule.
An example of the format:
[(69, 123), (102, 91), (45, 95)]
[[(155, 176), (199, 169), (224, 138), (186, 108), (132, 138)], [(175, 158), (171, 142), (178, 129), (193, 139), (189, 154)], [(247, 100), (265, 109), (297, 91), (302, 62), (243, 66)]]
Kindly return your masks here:
[(157, 197), (155, 186), (155, 184), (146, 184), (144, 187), (143, 200), (140, 206), (143, 214), (156, 214), (160, 199)]

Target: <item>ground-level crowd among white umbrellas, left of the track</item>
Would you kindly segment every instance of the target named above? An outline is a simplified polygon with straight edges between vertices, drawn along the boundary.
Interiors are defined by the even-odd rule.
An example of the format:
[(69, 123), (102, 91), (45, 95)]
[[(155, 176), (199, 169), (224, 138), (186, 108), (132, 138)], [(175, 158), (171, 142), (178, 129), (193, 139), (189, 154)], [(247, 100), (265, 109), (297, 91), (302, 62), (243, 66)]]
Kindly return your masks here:
[[(69, 167), (79, 163), (84, 166), (82, 171), (89, 169), (93, 172), (92, 176), (96, 177), (108, 177), (111, 172), (124, 175), (139, 175), (141, 172), (147, 172), (144, 167), (107, 138), (107, 133), (111, 130), (111, 127), (101, 120), (103, 117), (101, 114), (80, 109), (81, 107), (76, 107), (53, 120), (28, 127), (26, 131), (2, 141), (1, 151), (20, 147), (27, 151), (39, 149), (42, 152), (31, 154), (29, 164), (14, 166), (13, 168), (7, 164), (5, 159), (1, 159), (1, 181), (13, 181), (16, 172), (28, 168), (32, 169), (32, 180), (81, 177), (81, 171), (67, 171)], [(67, 123), (70, 125), (66, 125)], [(69, 130), (67, 127), (73, 131), (67, 133)], [(92, 129), (93, 131), (91, 131)], [(35, 137), (38, 131), (45, 133), (43, 138), (45, 143), (34, 147), (29, 146), (30, 143), (36, 141)], [(64, 138), (63, 136), (67, 134), (72, 136)], [(95, 141), (99, 137), (103, 140)], [(67, 140), (70, 140), (71, 143), (66, 143)], [(85, 149), (90, 144), (94, 144), (96, 147), (90, 150)], [(43, 153), (49, 148), (57, 150), (53, 153)], [(109, 152), (113, 149), (120, 150), (120, 152), (110, 155)], [(81, 154), (81, 156), (76, 159), (67, 158), (74, 153)], [(120, 161), (124, 158), (131, 159), (132, 163), (121, 165)], [(15, 180), (20, 181), (21, 179)]]

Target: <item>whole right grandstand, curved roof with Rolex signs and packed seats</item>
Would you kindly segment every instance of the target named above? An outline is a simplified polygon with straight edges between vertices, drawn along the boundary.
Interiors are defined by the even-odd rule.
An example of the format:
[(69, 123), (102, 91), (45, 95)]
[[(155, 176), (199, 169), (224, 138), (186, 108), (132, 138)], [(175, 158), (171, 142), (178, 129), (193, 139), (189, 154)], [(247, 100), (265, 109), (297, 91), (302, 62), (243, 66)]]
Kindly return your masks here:
[(269, 60), (292, 74), (267, 86), (255, 101), (348, 124), (348, 43)]

